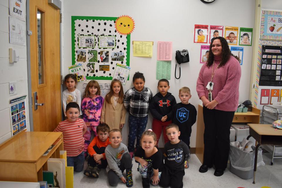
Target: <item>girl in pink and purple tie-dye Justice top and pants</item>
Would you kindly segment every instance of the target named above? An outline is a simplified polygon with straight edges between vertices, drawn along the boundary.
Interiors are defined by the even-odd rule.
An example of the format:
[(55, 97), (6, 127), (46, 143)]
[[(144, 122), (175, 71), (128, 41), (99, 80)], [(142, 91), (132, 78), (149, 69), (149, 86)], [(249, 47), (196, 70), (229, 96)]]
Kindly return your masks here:
[(87, 131), (85, 133), (84, 139), (84, 152), (85, 158), (88, 156), (87, 147), (90, 143), (90, 137), (92, 131), (94, 131), (95, 136), (97, 135), (96, 127), (100, 123), (100, 115), (103, 107), (104, 99), (100, 96), (100, 86), (96, 80), (91, 80), (86, 88), (84, 93), (84, 99), (81, 103), (81, 109), (83, 112), (83, 120), (87, 125)]

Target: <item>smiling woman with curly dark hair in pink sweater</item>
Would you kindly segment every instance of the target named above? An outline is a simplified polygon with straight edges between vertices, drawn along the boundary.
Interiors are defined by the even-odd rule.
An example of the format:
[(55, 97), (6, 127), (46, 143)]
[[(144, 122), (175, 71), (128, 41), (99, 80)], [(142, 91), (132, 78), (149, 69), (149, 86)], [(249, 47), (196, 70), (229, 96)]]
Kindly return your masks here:
[(209, 58), (199, 73), (197, 93), (203, 102), (204, 162), (199, 172), (215, 165), (215, 176), (227, 167), (230, 127), (239, 100), (241, 67), (223, 37), (215, 37), (209, 46)]

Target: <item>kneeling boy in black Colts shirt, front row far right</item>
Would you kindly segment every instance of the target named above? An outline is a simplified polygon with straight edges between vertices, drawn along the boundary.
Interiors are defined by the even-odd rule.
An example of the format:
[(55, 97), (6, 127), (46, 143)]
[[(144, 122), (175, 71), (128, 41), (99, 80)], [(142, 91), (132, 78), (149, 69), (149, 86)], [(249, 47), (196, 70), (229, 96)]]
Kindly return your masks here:
[(180, 131), (175, 124), (166, 127), (167, 137), (170, 142), (164, 145), (164, 169), (159, 185), (161, 187), (183, 187), (184, 162), (190, 158), (188, 146), (179, 140)]

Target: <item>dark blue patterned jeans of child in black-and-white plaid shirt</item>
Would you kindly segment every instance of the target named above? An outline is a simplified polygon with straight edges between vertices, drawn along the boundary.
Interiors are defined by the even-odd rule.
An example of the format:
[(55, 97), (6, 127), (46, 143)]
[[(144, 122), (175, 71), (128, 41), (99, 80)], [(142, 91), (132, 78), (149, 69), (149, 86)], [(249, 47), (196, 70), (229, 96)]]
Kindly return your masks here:
[(135, 138), (136, 140), (136, 148), (140, 145), (140, 138), (143, 132), (146, 129), (148, 121), (148, 115), (145, 117), (135, 117), (133, 115), (129, 115), (129, 134), (128, 134), (128, 151), (133, 152)]

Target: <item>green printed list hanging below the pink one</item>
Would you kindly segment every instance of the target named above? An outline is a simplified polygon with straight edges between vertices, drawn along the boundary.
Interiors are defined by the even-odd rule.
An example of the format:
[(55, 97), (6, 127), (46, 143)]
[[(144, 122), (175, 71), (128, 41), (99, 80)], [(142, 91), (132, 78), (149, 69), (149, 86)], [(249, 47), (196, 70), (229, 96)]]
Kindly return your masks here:
[(170, 80), (171, 61), (157, 61), (156, 79)]

